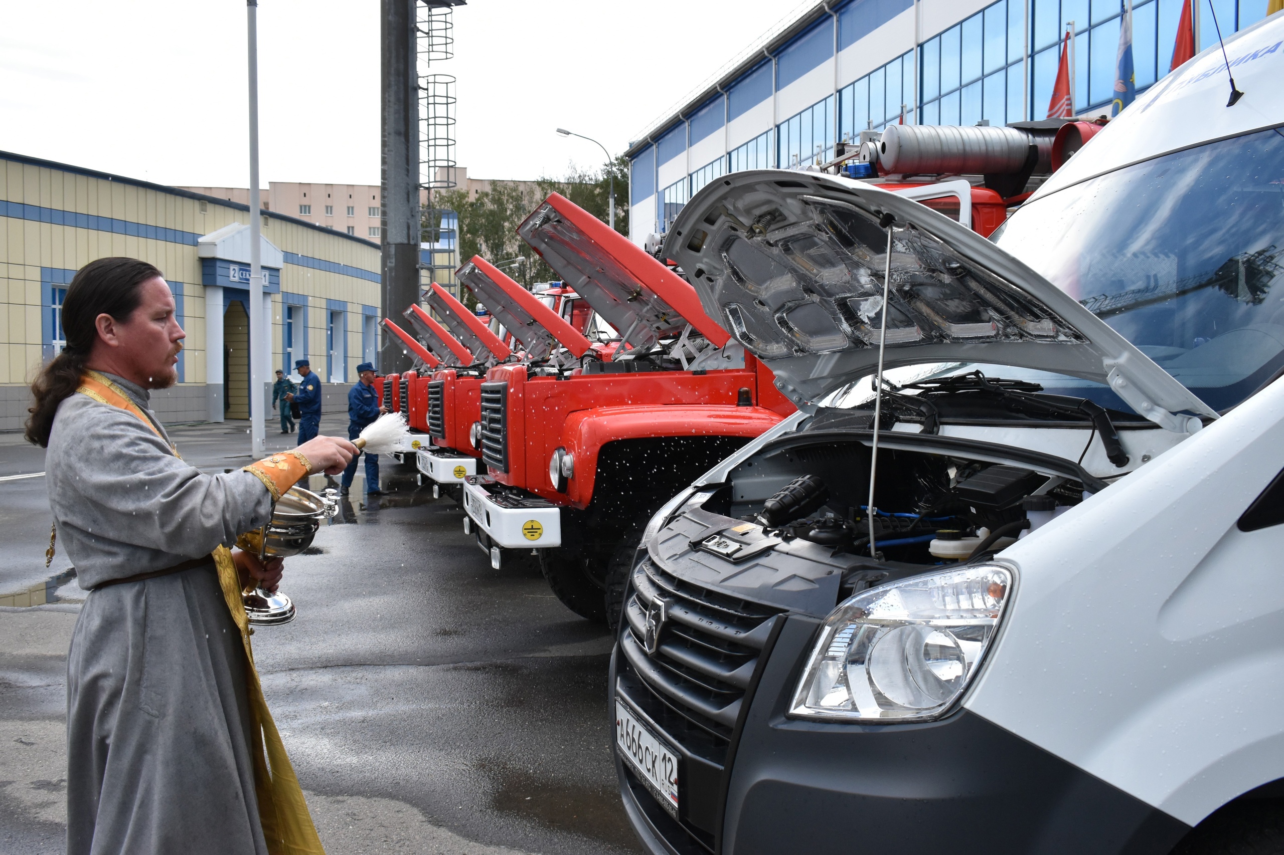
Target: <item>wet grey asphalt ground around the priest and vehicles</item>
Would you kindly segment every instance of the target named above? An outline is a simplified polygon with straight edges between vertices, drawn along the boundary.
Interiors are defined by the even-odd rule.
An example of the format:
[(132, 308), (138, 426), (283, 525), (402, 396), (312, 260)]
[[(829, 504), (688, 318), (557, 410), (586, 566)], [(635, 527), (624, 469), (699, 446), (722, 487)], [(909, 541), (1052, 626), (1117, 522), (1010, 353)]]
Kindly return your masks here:
[[(325, 433), (343, 422), (326, 419)], [(176, 428), (205, 471), (249, 462), (245, 422)], [(268, 433), (268, 448), (291, 445)], [(42, 452), (0, 435), (0, 479)], [(501, 570), (411, 465), (384, 458), (361, 493), (286, 560), (298, 618), (254, 655), (326, 851), (641, 851), (610, 756), (605, 628), (568, 611), (529, 556)], [(326, 485), (315, 476), (311, 487)], [(45, 569), (44, 479), (0, 480), (0, 852), (63, 849), (65, 651), (83, 592)], [(46, 584), (46, 580), (53, 579)]]

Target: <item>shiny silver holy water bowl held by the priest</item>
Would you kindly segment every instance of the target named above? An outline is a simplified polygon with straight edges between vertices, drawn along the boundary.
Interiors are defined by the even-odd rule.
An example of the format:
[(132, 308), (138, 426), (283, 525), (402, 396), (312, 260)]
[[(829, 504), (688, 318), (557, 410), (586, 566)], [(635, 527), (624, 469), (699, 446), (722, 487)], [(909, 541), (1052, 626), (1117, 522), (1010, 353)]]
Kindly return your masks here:
[[(312, 538), (321, 528), (321, 520), (338, 512), (336, 490), (327, 489), (318, 496), (302, 487), (291, 487), (276, 502), (267, 525), (243, 534), (236, 539), (236, 546), (257, 553), (261, 561), (298, 555), (312, 546)], [(252, 624), (263, 626), (294, 620), (294, 603), (280, 591), (276, 593), (268, 593), (263, 588), (245, 591), (241, 592), (241, 602)]]

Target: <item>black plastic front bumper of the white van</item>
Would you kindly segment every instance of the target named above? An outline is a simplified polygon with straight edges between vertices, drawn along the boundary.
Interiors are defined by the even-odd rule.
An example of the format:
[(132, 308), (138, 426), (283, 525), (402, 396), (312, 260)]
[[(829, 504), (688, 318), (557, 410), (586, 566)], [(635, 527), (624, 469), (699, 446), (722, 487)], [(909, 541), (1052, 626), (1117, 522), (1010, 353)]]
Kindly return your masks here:
[[(1189, 831), (966, 710), (926, 724), (787, 719), (818, 621), (779, 620), (724, 770), (681, 773), (681, 796), (715, 818), (714, 834), (670, 819), (616, 754), (624, 808), (651, 852), (1162, 855)], [(627, 687), (634, 677), (616, 644), (612, 692), (621, 674)]]

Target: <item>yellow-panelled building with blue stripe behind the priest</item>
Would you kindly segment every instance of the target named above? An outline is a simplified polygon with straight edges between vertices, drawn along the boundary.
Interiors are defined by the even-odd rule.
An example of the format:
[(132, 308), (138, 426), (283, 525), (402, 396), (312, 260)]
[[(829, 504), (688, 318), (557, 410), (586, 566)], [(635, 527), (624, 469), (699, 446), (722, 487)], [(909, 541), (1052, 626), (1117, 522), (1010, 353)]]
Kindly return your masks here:
[[(72, 276), (105, 255), (159, 267), (187, 332), (178, 383), (153, 393), (158, 415), (248, 419), (248, 223), (239, 202), (0, 151), (0, 430), (22, 428), (27, 384), (62, 347)], [(342, 384), (326, 406), (345, 406), (335, 393), (377, 353), (377, 239), (265, 211), (262, 259), (272, 367), (308, 358)]]

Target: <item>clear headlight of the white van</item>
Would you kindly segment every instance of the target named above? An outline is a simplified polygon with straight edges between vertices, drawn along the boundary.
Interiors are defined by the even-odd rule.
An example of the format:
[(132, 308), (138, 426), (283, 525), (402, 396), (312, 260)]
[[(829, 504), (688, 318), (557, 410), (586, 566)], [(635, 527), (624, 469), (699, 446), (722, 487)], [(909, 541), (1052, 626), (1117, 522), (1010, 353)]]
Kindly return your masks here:
[(1003, 618), (1012, 570), (978, 565), (863, 591), (824, 620), (790, 715), (907, 721), (949, 711)]

